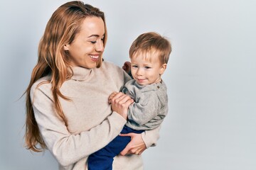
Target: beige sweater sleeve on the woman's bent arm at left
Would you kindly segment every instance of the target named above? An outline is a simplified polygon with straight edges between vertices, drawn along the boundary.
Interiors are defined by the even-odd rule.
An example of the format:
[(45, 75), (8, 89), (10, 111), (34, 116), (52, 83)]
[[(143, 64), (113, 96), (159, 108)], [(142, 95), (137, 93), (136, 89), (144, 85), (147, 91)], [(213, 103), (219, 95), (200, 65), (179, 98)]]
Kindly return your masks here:
[(100, 125), (77, 135), (71, 134), (58, 117), (53, 101), (40, 87), (31, 89), (33, 111), (46, 146), (62, 166), (68, 166), (105, 147), (122, 130), (126, 120), (112, 113)]

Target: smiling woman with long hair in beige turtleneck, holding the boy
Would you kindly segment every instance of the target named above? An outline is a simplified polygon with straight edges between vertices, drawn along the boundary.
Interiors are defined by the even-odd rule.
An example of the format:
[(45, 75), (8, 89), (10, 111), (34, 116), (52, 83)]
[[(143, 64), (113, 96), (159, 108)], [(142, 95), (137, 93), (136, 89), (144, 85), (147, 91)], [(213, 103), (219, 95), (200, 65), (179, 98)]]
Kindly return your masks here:
[[(127, 121), (132, 99), (119, 93), (112, 108), (107, 101), (130, 78), (102, 62), (106, 40), (104, 13), (71, 1), (53, 13), (39, 44), (26, 90), (26, 147), (49, 149), (59, 169), (87, 169), (87, 157), (114, 139)], [(140, 154), (156, 143), (159, 129), (128, 135), (131, 142), (114, 158), (114, 170), (143, 169)]]

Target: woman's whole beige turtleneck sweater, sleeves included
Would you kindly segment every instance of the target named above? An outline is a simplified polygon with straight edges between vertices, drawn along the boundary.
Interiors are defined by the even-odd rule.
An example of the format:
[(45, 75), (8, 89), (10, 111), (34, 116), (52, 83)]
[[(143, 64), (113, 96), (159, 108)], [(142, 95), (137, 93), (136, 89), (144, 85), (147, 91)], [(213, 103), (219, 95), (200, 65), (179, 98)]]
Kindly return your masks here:
[[(128, 74), (110, 62), (103, 62), (98, 69), (73, 67), (73, 73), (60, 88), (71, 99), (60, 98), (68, 127), (55, 112), (51, 84), (38, 86), (50, 77), (39, 79), (31, 89), (36, 122), (60, 170), (87, 169), (87, 157), (105, 147), (126, 123), (122, 116), (112, 112), (107, 99), (113, 91), (122, 89), (130, 79)], [(159, 128), (142, 133), (142, 138), (146, 147), (155, 145)], [(142, 157), (137, 154), (114, 157), (113, 169), (143, 169)]]

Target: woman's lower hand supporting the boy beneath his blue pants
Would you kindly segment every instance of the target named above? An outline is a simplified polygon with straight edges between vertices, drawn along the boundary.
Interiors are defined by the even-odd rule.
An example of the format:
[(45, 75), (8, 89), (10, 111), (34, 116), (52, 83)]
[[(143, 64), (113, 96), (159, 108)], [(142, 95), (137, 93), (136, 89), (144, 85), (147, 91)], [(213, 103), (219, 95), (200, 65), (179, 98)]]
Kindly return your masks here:
[(137, 133), (127, 133), (120, 134), (119, 136), (129, 136), (131, 137), (131, 142), (120, 152), (121, 155), (125, 154), (142, 154), (146, 149), (146, 145), (142, 140), (142, 134)]

